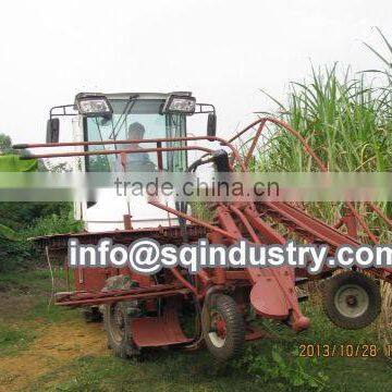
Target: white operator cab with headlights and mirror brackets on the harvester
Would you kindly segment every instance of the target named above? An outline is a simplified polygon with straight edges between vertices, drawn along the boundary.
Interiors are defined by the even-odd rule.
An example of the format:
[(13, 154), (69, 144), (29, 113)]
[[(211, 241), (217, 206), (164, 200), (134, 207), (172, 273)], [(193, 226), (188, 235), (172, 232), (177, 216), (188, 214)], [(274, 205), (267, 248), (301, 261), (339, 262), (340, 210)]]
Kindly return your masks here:
[[(75, 114), (69, 111), (77, 111)], [(74, 170), (85, 172), (183, 172), (188, 167), (186, 150), (149, 151), (151, 148), (182, 147), (186, 140), (159, 140), (186, 137), (186, 119), (208, 114), (207, 135), (215, 136), (216, 112), (212, 105), (196, 103), (191, 93), (81, 93), (73, 106), (50, 111), (47, 143), (59, 142), (59, 117), (74, 115), (74, 142), (121, 140), (121, 144), (78, 147), (93, 150), (132, 150), (132, 154), (90, 155), (81, 158)], [(201, 135), (199, 135), (201, 136)], [(144, 142), (154, 139), (151, 142)], [(126, 143), (126, 142), (130, 143)], [(137, 142), (135, 142), (137, 140)], [(112, 189), (111, 189), (112, 192)], [(175, 216), (147, 204), (144, 196), (113, 199), (100, 194), (97, 203), (75, 204), (75, 217), (89, 232), (124, 229), (124, 216), (132, 217), (132, 228), (177, 224)], [(174, 200), (168, 201), (169, 205)]]

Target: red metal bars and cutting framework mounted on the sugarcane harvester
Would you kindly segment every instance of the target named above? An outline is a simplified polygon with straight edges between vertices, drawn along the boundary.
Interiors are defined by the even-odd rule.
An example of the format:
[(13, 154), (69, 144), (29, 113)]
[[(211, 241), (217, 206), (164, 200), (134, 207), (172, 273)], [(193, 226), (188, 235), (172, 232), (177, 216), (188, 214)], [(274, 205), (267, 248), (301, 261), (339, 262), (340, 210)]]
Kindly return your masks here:
[[(280, 120), (272, 118), (262, 118), (258, 121), (255, 121), (243, 131), (237, 133), (234, 137), (229, 140), (224, 140), (219, 137), (211, 136), (199, 136), (199, 137), (175, 137), (175, 138), (155, 138), (155, 139), (143, 139), (143, 140), (105, 140), (105, 142), (79, 142), (79, 143), (60, 143), (60, 144), (30, 144), (30, 145), (17, 145), (15, 148), (39, 148), (39, 147), (65, 147), (65, 146), (89, 146), (89, 145), (105, 145), (105, 144), (143, 144), (143, 143), (156, 143), (156, 148), (146, 148), (140, 151), (157, 152), (158, 155), (162, 151), (172, 151), (172, 150), (200, 150), (206, 154), (213, 152), (212, 149), (198, 147), (198, 146), (179, 146), (179, 147), (161, 147), (161, 144), (164, 142), (195, 142), (195, 140), (210, 140), (219, 142), (222, 146), (230, 148), (233, 164), (236, 162), (237, 167), (242, 171), (246, 171), (250, 158), (257, 147), (258, 139), (265, 130), (266, 124), (270, 122), (273, 123), (285, 131), (294, 135), (303, 145), (304, 149), (311, 156), (316, 164), (321, 171), (327, 171), (327, 167), (319, 159), (319, 157), (313, 151), (307, 142), (302, 137), (302, 135), (293, 130), (289, 124), (283, 123)], [(234, 147), (233, 142), (237, 140), (246, 132), (254, 130), (257, 126), (256, 135), (252, 142), (250, 148), (244, 158), (241, 157), (238, 150)], [(71, 156), (87, 156), (87, 155), (109, 155), (109, 154), (120, 154), (125, 156), (126, 154), (137, 154), (138, 151), (130, 149), (121, 150), (100, 150), (100, 151), (84, 151), (84, 152), (59, 152), (59, 154), (40, 154), (25, 157), (25, 159), (33, 158), (49, 158), (49, 157), (71, 157)], [(232, 168), (233, 168), (232, 164)], [(232, 169), (231, 168), (231, 169)], [(331, 252), (333, 252), (338, 246), (342, 244), (352, 244), (358, 245), (358, 241), (355, 238), (356, 231), (353, 230), (355, 223), (358, 222), (364, 231), (368, 234), (369, 238), (373, 242), (377, 242), (377, 237), (371, 233), (370, 229), (355, 210), (354, 206), (350, 203), (346, 204), (348, 213), (342, 217), (342, 220), (332, 228), (327, 225), (324, 222), (315, 219), (302, 211), (297, 207), (294, 207), (287, 203), (217, 203), (211, 206), (211, 209), (215, 211), (213, 223), (206, 222), (204, 220), (197, 219), (193, 216), (179, 211), (176, 209), (170, 208), (166, 205), (160, 204), (155, 199), (150, 199), (149, 204), (160, 208), (167, 212), (173, 213), (176, 217), (183, 219), (184, 221), (192, 222), (193, 225), (186, 225), (186, 231), (194, 230), (194, 228), (199, 228), (204, 230), (206, 236), (210, 243), (223, 243), (223, 244), (233, 244), (242, 237), (248, 238), (254, 243), (264, 243), (264, 244), (283, 244), (285, 242), (285, 235), (281, 234), (280, 231), (273, 226), (273, 224), (268, 223), (267, 218), (272, 220), (277, 224), (283, 224), (287, 230), (287, 233), (295, 232), (297, 235), (303, 237), (305, 241), (324, 243), (330, 245)], [(372, 210), (378, 213), (387, 223), (391, 224), (391, 220), (388, 217), (384, 217), (383, 213), (373, 206), (369, 204)], [(338, 231), (339, 228), (345, 225), (348, 230), (348, 234), (343, 234)], [(176, 232), (172, 231), (171, 234), (170, 228), (156, 228), (151, 229), (151, 235), (156, 235), (158, 241), (162, 243), (172, 243), (173, 241), (182, 242), (183, 233), (180, 228), (176, 228)], [(124, 230), (120, 232), (106, 232), (99, 234), (93, 233), (81, 233), (81, 234), (69, 234), (62, 235), (61, 238), (66, 238), (69, 236), (77, 236), (78, 238), (86, 237), (98, 238), (97, 235), (112, 236), (114, 241), (120, 241), (122, 243), (130, 243), (132, 238), (137, 238), (140, 235), (146, 235), (146, 230)], [(187, 234), (195, 234), (194, 232), (187, 232)], [(193, 241), (195, 236), (188, 235), (188, 241)], [(51, 248), (56, 248), (56, 244), (59, 243), (59, 236), (47, 236), (37, 238), (37, 241), (44, 245)], [(208, 270), (200, 270), (193, 279), (187, 279), (179, 268), (172, 268), (163, 272), (164, 284), (157, 283), (151, 277), (140, 277), (134, 272), (122, 269), (115, 271), (114, 269), (108, 269), (109, 271), (97, 271), (97, 269), (84, 268), (76, 271), (76, 292), (66, 293), (60, 296), (57, 299), (58, 305), (66, 306), (86, 306), (86, 305), (100, 305), (114, 303), (119, 301), (152, 301), (160, 298), (176, 298), (182, 297), (185, 301), (193, 301), (198, 304), (198, 306), (204, 306), (208, 304), (208, 297), (211, 293), (217, 292), (229, 292), (237, 298), (238, 307), (246, 307), (252, 304), (253, 308), (256, 310), (256, 314), (267, 318), (280, 319), (287, 322), (295, 331), (301, 331), (309, 326), (309, 319), (306, 318), (298, 306), (298, 297), (295, 293), (296, 278), (301, 275), (301, 272), (294, 271), (289, 267), (280, 267), (277, 269), (265, 268), (265, 269), (253, 269), (246, 268), (241, 270), (224, 270), (222, 268), (215, 268)], [(333, 270), (326, 269), (322, 273), (314, 279), (322, 279), (326, 275), (332, 274)], [(383, 279), (388, 282), (392, 282), (392, 269), (380, 268), (380, 269), (368, 269), (368, 273), (372, 274), (378, 279)], [(81, 274), (82, 273), (82, 274)], [(121, 292), (109, 290), (102, 292), (91, 290), (95, 287), (103, 287), (106, 279), (112, 274), (128, 274), (133, 280), (137, 281), (140, 284), (139, 289), (123, 290)], [(240, 298), (237, 294), (242, 291), (245, 291), (247, 298)], [(245, 295), (245, 297), (246, 297)], [(168, 299), (169, 301), (169, 299)], [(172, 306), (175, 308), (175, 301), (171, 302)], [(173, 310), (173, 307), (170, 307), (170, 311)], [(168, 310), (169, 311), (169, 310)], [(142, 318), (143, 319), (143, 318)], [(168, 339), (162, 336), (160, 341), (160, 331), (177, 331), (180, 326), (177, 321), (173, 320), (168, 321), (168, 318), (164, 318), (163, 321), (156, 320), (155, 323), (150, 323), (149, 320), (140, 320), (137, 322), (138, 327), (134, 330), (135, 341), (137, 336), (144, 336), (144, 328), (149, 329), (151, 335), (154, 335), (155, 345), (167, 345), (167, 344), (180, 344), (183, 343), (182, 336), (179, 338), (179, 334), (173, 334), (173, 341), (168, 343)], [(201, 322), (201, 321), (200, 321)], [(174, 338), (176, 335), (176, 338)], [(249, 336), (248, 336), (249, 338)], [(177, 341), (175, 341), (177, 339)], [(187, 342), (186, 346), (197, 346), (201, 342), (200, 333), (195, 336), (192, 343)], [(139, 342), (145, 340), (140, 338)], [(142, 344), (142, 343), (140, 343)]]

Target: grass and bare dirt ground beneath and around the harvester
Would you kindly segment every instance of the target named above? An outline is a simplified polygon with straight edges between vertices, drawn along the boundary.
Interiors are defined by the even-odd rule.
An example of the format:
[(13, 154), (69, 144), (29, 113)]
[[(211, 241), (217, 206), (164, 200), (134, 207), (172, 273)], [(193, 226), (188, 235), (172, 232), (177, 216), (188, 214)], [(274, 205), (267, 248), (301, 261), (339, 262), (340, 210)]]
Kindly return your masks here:
[[(247, 363), (217, 367), (206, 350), (192, 353), (157, 350), (147, 353), (142, 360), (115, 358), (107, 348), (102, 323), (86, 323), (76, 309), (48, 307), (51, 291), (47, 274), (38, 270), (22, 278), (23, 284), (20, 275), (7, 279), (0, 275), (0, 289), (5, 289), (0, 290), (0, 392), (309, 390), (306, 385), (293, 389), (292, 383), (283, 383), (282, 377), (261, 379), (259, 377), (266, 377), (261, 370), (250, 376)], [(391, 363), (381, 356), (294, 362), (293, 353), (304, 342), (377, 342), (373, 328), (340, 330), (327, 320), (319, 306), (309, 303), (305, 310), (313, 319), (313, 328), (308, 331), (296, 335), (279, 329), (275, 331), (281, 336), (279, 340), (265, 339), (255, 343), (260, 353), (256, 358), (262, 369), (265, 364), (268, 368), (277, 367), (271, 355), (280, 348), (280, 355), (287, 353), (284, 373), (297, 371), (298, 364), (301, 370), (313, 378), (322, 372), (328, 378), (322, 390), (390, 390)]]

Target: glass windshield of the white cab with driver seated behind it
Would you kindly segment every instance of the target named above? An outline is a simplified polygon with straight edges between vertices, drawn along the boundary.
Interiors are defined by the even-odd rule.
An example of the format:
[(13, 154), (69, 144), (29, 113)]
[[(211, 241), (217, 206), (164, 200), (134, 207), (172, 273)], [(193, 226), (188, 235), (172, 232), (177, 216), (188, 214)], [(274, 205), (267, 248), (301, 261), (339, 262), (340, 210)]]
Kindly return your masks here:
[[(84, 119), (85, 140), (132, 140), (149, 138), (180, 137), (185, 135), (185, 117), (181, 114), (160, 114), (162, 99), (112, 99), (111, 119)], [(162, 143), (161, 147), (176, 147), (185, 142)], [(146, 148), (156, 148), (156, 143), (119, 144), (88, 146), (86, 150), (132, 149), (126, 155), (126, 171), (185, 171), (186, 151), (145, 152)], [(137, 151), (137, 152), (136, 152)], [(123, 162), (124, 163), (124, 162)], [(86, 170), (90, 172), (123, 171), (119, 155), (86, 157)]]

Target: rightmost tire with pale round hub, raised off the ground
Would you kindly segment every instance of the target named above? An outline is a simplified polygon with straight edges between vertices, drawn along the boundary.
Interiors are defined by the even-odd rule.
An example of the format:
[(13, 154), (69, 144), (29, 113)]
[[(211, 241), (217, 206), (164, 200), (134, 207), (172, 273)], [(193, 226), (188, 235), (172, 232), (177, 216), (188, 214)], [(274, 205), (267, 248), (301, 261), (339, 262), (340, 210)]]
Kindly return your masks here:
[(381, 310), (379, 284), (355, 271), (328, 279), (322, 302), (328, 318), (335, 326), (348, 330), (369, 326)]

